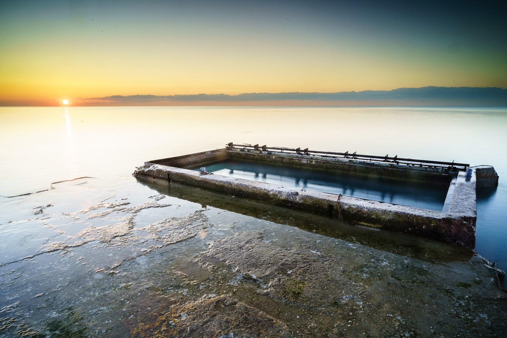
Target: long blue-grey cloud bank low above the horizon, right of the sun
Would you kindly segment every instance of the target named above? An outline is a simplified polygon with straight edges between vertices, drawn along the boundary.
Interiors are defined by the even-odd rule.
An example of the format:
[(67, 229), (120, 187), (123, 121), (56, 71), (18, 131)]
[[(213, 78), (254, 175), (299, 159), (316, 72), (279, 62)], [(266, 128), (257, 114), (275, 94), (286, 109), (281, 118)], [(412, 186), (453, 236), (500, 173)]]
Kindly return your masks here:
[(381, 100), (488, 100), (491, 104), (507, 103), (507, 89), (496, 87), (422, 87), (399, 88), (393, 90), (365, 90), (361, 92), (338, 93), (245, 93), (227, 94), (195, 94), (195, 95), (113, 95), (92, 98), (90, 100), (124, 103), (148, 103), (158, 101), (174, 102), (256, 102), (280, 100), (322, 100), (322, 101), (381, 101)]

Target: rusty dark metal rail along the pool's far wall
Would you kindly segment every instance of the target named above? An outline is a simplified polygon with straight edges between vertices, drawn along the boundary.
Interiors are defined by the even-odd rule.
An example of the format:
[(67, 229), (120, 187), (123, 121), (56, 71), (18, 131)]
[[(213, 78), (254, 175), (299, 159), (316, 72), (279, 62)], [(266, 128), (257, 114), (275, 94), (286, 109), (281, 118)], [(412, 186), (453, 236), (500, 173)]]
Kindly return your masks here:
[[(307, 155), (307, 156), (314, 156), (313, 154), (321, 154), (317, 156), (322, 157), (330, 157), (330, 158), (343, 158), (343, 159), (354, 159), (359, 161), (375, 161), (375, 162), (389, 162), (394, 164), (404, 164), (404, 165), (410, 165), (410, 166), (425, 166), (425, 167), (433, 167), (433, 168), (448, 168), (448, 169), (457, 169), (457, 170), (465, 170), (467, 167), (469, 167), (469, 164), (465, 163), (455, 163), (452, 162), (442, 162), (442, 161), (428, 161), (428, 160), (415, 160), (415, 159), (405, 159), (405, 158), (399, 158), (397, 155), (394, 157), (389, 157), (389, 155), (386, 156), (374, 156), (374, 155), (360, 155), (356, 154), (355, 152), (353, 154), (349, 154), (349, 152), (345, 153), (334, 153), (334, 152), (320, 152), (320, 151), (313, 151), (301, 148), (285, 148), (285, 147), (268, 147), (266, 145), (259, 146), (259, 144), (251, 145), (251, 144), (234, 144), (233, 142), (227, 143), (227, 147), (233, 148), (233, 147), (242, 147), (245, 149), (252, 149), (255, 151), (268, 151), (268, 150), (275, 150), (281, 152), (294, 152), (298, 155)], [(330, 155), (337, 155), (337, 156), (330, 156)]]

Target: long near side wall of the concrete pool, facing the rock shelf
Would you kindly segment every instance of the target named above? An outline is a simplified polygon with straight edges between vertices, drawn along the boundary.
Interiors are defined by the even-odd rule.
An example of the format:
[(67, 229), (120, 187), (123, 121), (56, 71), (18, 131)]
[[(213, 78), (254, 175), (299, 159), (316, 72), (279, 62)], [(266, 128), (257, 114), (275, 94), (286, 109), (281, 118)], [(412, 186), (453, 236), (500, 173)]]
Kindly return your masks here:
[(197, 171), (156, 164), (136, 170), (134, 176), (436, 239), (467, 248), (475, 246), (477, 215), (469, 210), (464, 213), (427, 210), (317, 191), (301, 191), (229, 176), (201, 176)]

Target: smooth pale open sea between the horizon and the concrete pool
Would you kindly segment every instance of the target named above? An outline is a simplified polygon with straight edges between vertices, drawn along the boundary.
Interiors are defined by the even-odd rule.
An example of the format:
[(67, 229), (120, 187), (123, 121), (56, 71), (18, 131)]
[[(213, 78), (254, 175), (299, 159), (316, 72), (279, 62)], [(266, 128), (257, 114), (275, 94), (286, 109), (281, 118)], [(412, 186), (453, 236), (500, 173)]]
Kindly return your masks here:
[(500, 181), (478, 194), (476, 251), (507, 268), (506, 107), (1, 107), (0, 135), (3, 196), (228, 142), (492, 165)]

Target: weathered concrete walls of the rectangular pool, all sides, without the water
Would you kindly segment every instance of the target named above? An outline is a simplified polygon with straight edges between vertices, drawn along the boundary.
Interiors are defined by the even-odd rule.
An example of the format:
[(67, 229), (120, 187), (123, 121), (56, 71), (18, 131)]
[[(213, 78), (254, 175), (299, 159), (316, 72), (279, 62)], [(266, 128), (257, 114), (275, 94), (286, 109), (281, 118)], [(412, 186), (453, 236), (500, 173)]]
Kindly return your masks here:
[[(449, 211), (444, 212), (301, 190), (217, 174), (200, 175), (198, 171), (186, 169), (195, 166), (204, 167), (206, 164), (228, 159), (368, 175), (369, 177), (383, 177), (423, 184), (450, 184), (453, 177), (457, 176), (457, 178)], [(347, 223), (356, 223), (474, 248), (477, 221), (476, 186), (478, 185), (476, 173), (479, 173), (481, 178), (485, 176), (486, 179), (489, 179), (487, 182), (491, 182), (492, 167), (474, 167), (471, 177), (466, 177), (465, 173), (459, 170), (454, 172), (427, 167), (400, 167), (395, 164), (354, 161), (353, 159), (326, 159), (296, 154), (273, 154), (264, 151), (244, 152), (237, 148), (222, 148), (146, 162), (133, 175), (341, 219)]]

